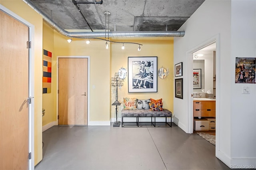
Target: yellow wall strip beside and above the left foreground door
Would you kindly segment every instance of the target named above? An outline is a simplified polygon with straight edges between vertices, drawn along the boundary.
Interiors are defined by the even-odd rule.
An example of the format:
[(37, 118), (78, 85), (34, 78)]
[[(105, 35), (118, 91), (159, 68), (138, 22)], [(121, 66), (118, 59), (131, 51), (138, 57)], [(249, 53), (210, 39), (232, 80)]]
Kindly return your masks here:
[(42, 17), (22, 0), (1, 0), (0, 4), (35, 27), (34, 39), (34, 163), (42, 160)]

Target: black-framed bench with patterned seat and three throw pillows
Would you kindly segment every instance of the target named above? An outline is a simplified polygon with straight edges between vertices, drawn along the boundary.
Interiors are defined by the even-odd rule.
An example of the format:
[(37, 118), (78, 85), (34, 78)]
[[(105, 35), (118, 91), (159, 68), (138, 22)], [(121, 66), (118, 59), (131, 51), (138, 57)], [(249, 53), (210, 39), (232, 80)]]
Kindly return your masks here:
[[(124, 107), (122, 113), (122, 127), (124, 123), (136, 123), (136, 127), (140, 127), (140, 123), (150, 123), (151, 126), (156, 127), (156, 123), (165, 123), (165, 125), (172, 127), (172, 112), (168, 109), (162, 108), (162, 99), (137, 99), (124, 98)], [(140, 118), (151, 118), (151, 122), (142, 122)], [(170, 124), (167, 122), (167, 117), (171, 118)], [(136, 118), (136, 121), (124, 122), (124, 118)], [(156, 118), (165, 118), (165, 122), (156, 122)]]

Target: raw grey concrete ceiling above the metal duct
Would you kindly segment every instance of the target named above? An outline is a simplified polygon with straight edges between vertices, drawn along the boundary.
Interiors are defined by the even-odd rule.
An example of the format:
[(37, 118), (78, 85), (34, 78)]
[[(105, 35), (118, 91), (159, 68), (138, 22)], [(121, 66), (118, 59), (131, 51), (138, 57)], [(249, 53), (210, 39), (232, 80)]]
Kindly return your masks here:
[[(64, 30), (177, 31), (204, 0), (102, 0), (102, 4), (77, 4), (95, 0), (31, 0)], [(100, 2), (100, 0), (96, 0)], [(104, 12), (110, 12), (108, 16)], [(90, 27), (88, 26), (88, 24)], [(109, 27), (108, 27), (109, 26)]]

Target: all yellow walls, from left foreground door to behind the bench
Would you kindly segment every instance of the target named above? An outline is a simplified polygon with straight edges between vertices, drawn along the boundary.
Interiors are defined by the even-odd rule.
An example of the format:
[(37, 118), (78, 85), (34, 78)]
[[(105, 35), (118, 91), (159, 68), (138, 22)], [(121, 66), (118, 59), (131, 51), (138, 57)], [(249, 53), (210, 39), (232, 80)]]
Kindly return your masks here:
[[(86, 44), (84, 39), (73, 38), (68, 43), (67, 38), (43, 24), (42, 17), (22, 0), (1, 0), (0, 4), (16, 13), (24, 20), (35, 26), (34, 40), (34, 151), (35, 161), (38, 164), (42, 160), (42, 125), (57, 121), (56, 119), (56, 58), (60, 55), (84, 55), (90, 56), (90, 121), (110, 121), (115, 118), (115, 108), (111, 104), (115, 101), (115, 91), (110, 87), (111, 77), (120, 69), (127, 68), (129, 56), (157, 56), (158, 68), (169, 68), (170, 75), (166, 79), (158, 78), (157, 93), (132, 93), (128, 94), (128, 79), (119, 91), (119, 101), (122, 97), (149, 97), (163, 98), (164, 107), (173, 110), (173, 39), (172, 38), (140, 38), (140, 39), (113, 39), (142, 43), (141, 51), (137, 51), (138, 45), (125, 45), (124, 50), (118, 43), (111, 43), (110, 48), (105, 48), (102, 40), (91, 39)], [(43, 29), (44, 28), (44, 29)], [(44, 36), (44, 38), (43, 38)], [(42, 95), (42, 50), (52, 52), (52, 92)], [(95, 89), (92, 89), (95, 85)], [(121, 100), (120, 100), (121, 99)], [(42, 105), (46, 114), (42, 118)]]

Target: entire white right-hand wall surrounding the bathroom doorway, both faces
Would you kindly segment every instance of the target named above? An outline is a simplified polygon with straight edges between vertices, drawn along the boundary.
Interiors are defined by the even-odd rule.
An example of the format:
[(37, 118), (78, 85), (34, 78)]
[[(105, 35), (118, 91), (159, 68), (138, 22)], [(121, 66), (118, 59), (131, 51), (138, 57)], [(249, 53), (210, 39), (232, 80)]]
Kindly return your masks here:
[(255, 0), (206, 0), (179, 29), (185, 36), (174, 38), (174, 64), (184, 65), (184, 96), (183, 100), (174, 97), (174, 122), (185, 132), (191, 132), (191, 53), (217, 40), (216, 157), (231, 168), (234, 164), (256, 167), (256, 84), (246, 84), (251, 93), (242, 95), (243, 84), (234, 83), (235, 57), (256, 57), (255, 18)]

